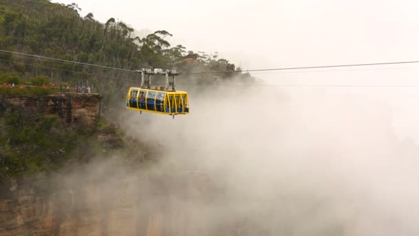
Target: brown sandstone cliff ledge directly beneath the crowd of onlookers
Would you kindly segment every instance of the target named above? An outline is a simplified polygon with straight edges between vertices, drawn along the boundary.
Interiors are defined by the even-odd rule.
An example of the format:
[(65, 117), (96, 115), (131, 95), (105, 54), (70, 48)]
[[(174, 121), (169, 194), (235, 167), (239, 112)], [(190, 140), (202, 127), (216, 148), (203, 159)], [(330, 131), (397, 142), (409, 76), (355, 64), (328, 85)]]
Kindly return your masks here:
[(68, 124), (96, 124), (101, 97), (97, 94), (0, 97), (0, 112), (20, 111), (29, 116), (58, 115)]

